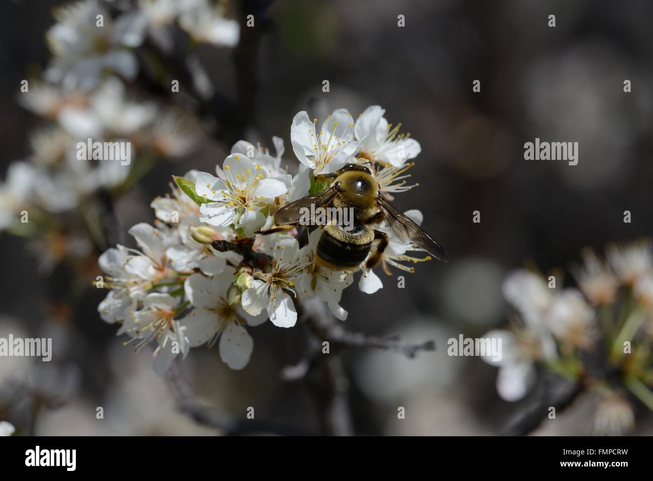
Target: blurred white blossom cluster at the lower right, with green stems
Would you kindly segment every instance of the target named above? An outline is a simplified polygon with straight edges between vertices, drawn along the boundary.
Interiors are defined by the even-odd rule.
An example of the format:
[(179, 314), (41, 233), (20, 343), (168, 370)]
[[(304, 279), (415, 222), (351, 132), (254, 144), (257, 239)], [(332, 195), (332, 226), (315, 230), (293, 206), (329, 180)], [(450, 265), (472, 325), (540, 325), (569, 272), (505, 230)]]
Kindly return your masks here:
[[(591, 249), (582, 257), (573, 269), (578, 288), (532, 271), (507, 276), (503, 295), (517, 317), (509, 329), (486, 333), (502, 339), (503, 352), (500, 361), (484, 359), (499, 366), (497, 390), (506, 401), (528, 393), (536, 367), (580, 382), (601, 397), (597, 433), (620, 434), (633, 423), (627, 392), (653, 410), (653, 253), (643, 240), (611, 245), (605, 259)], [(625, 420), (618, 425), (608, 419), (617, 410)]]

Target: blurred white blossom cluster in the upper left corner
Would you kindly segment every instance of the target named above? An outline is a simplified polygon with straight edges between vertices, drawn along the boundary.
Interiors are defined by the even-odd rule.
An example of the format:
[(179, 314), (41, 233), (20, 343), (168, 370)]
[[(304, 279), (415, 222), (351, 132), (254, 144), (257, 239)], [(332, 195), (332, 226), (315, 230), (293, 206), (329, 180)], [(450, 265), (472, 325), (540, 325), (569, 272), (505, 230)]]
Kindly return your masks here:
[[(167, 52), (174, 29), (181, 29), (193, 44), (234, 46), (238, 22), (223, 13), (208, 0), (82, 0), (55, 8), (46, 35), (52, 57), (42, 77), (23, 80), (17, 95), (40, 124), (29, 135), (31, 152), (0, 181), (0, 230), (52, 237), (46, 244), (65, 248), (50, 253), (43, 263), (49, 265), (89, 250), (89, 239), (86, 249), (72, 248), (69, 232), (80, 231), (78, 225), (63, 229), (59, 222), (62, 213), (78, 212), (102, 245), (97, 194), (127, 191), (157, 159), (185, 156), (200, 140), (195, 115), (152, 101), (131, 84), (142, 59), (151, 57), (149, 45)], [(145, 49), (141, 61), (138, 48)]]

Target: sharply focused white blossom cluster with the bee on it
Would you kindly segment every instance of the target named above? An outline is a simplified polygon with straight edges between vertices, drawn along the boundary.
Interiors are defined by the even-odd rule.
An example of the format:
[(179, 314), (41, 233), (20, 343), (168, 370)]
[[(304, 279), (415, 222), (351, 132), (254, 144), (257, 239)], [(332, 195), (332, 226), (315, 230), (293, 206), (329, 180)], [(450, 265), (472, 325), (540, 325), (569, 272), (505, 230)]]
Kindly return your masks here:
[[(384, 113), (372, 106), (354, 121), (347, 110), (338, 109), (320, 129), (306, 112), (297, 114), (291, 143), (300, 166), (294, 176), (282, 167), (283, 140), (274, 137), (274, 154), (239, 141), (215, 174), (191, 171), (175, 177), (172, 194), (151, 203), (154, 225), (129, 230), (140, 250), (117, 246), (101, 256), (106, 276), (97, 286), (110, 289), (99, 306), (103, 320), (120, 323), (118, 333), (131, 337), (128, 342), (137, 349), (155, 340), (159, 374), (189, 348), (216, 343), (221, 359), (242, 369), (253, 349), (247, 327), (268, 319), (278, 327), (293, 327), (298, 297), (321, 299), (345, 320), (340, 300), (355, 271), (360, 271), (358, 286), (366, 293), (383, 287), (379, 276), (364, 263), (355, 271), (318, 265), (320, 229), (308, 235), (299, 235), (298, 229), (271, 235), (257, 231), (272, 225), (283, 205), (326, 188), (317, 174), (338, 171), (346, 163), (368, 166), (384, 195), (411, 188), (406, 170), (420, 152), (419, 143), (398, 133)], [(406, 214), (421, 223), (419, 210)], [(430, 259), (398, 239), (385, 222), (378, 228), (389, 237), (379, 263), (386, 273), (390, 266), (411, 272), (407, 263)]]

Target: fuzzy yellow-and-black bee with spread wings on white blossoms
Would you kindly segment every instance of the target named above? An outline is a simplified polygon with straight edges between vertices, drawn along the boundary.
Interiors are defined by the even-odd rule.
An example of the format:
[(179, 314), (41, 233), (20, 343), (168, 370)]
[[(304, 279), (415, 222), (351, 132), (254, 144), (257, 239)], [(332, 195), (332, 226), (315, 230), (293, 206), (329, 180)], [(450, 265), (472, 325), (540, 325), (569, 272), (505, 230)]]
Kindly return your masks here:
[[(381, 195), (379, 184), (370, 169), (347, 164), (336, 173), (315, 176), (317, 182), (329, 178), (332, 179), (330, 187), (279, 208), (274, 214), (275, 225), (264, 227), (258, 233), (267, 235), (289, 231), (300, 225), (302, 214), (308, 212), (306, 209), (315, 212), (317, 207), (351, 207), (354, 216), (353, 226), (349, 226), (349, 230), (333, 223), (321, 226), (323, 233), (317, 243), (315, 256), (317, 265), (332, 270), (355, 271), (368, 256), (372, 242), (379, 240), (374, 254), (366, 262), (366, 267), (372, 269), (381, 261), (388, 246), (388, 235), (371, 227), (383, 220), (402, 242), (410, 241), (437, 259), (449, 261), (449, 256), (438, 242)], [(314, 206), (313, 209), (311, 205)], [(305, 214), (303, 218), (306, 219)]]

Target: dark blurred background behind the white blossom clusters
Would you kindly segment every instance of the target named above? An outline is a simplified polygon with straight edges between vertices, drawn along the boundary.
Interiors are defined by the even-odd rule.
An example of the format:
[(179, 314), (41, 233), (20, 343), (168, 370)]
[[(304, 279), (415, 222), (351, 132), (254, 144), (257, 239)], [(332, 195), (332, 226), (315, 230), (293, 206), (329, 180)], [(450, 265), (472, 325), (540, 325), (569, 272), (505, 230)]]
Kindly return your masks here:
[[(52, 8), (63, 3), (12, 0), (0, 6), (3, 179), (12, 161), (35, 150), (30, 136), (44, 122), (18, 103), (20, 82), (48, 65), (45, 33), (55, 23)], [(497, 369), (478, 357), (447, 356), (447, 339), (460, 333), (480, 337), (506, 324), (501, 286), (511, 269), (528, 264), (547, 272), (568, 269), (584, 246), (602, 250), (607, 242), (650, 235), (653, 4), (275, 0), (264, 8), (266, 2), (260, 3), (259, 50), (246, 60), (254, 62), (250, 73), (258, 82), (251, 97), (234, 69), (232, 48), (193, 47), (220, 98), (246, 111), (220, 110), (226, 112), (221, 123), (182, 94), (177, 107), (197, 118), (204, 135), (192, 152), (156, 161), (129, 188), (112, 194), (117, 225), (108, 245), (133, 246), (116, 233), (124, 236), (131, 225), (153, 220), (150, 201), (167, 193), (171, 174), (213, 172), (229, 154), (234, 131), (270, 147), (272, 135), (282, 137), (284, 162), (295, 173), (289, 127), (296, 112), (309, 110), (312, 118), (347, 108), (356, 117), (368, 105), (381, 105), (389, 122), (402, 122), (402, 131), (422, 148), (411, 169), (420, 186), (398, 195), (396, 205), (422, 210), (422, 226), (451, 261), (416, 265), (405, 289), (396, 288), (394, 273), (379, 274), (385, 289), (374, 295), (355, 287), (344, 291), (348, 329), (413, 342), (434, 339), (437, 345), (417, 359), (377, 350), (345, 353), (355, 431), (502, 433), (542, 391), (534, 388), (516, 403), (503, 401), (495, 387)], [(239, 8), (229, 5), (227, 16), (234, 18)], [(405, 27), (398, 27), (400, 14)], [(548, 26), (550, 14), (556, 27)], [(241, 42), (247, 35), (241, 33)], [(130, 93), (170, 104), (142, 71), (127, 82)], [(624, 92), (626, 79), (630, 93)], [(323, 80), (330, 82), (328, 93)], [(481, 81), (480, 92), (472, 91), (474, 80)], [(246, 128), (235, 129), (230, 119)], [(524, 160), (524, 142), (535, 137), (579, 142), (578, 165)], [(480, 224), (472, 222), (475, 210), (481, 212)], [(624, 210), (631, 211), (630, 224), (624, 224)], [(56, 237), (0, 235), (0, 337), (52, 337), (54, 346), (51, 363), (0, 359), (4, 399), (17, 393), (22, 399), (18, 407), (15, 399), (5, 402), (0, 420), (37, 435), (219, 433), (176, 409), (166, 380), (151, 372), (151, 351), (135, 354), (123, 347), (115, 326), (100, 320), (97, 305), (106, 292), (91, 282), (106, 246), (85, 235), (77, 239), (75, 216), (61, 214), (57, 222), (67, 229)], [(564, 284), (573, 286), (573, 278), (567, 275)], [(301, 355), (301, 332), (265, 323), (251, 335), (256, 348), (244, 371), (231, 371), (217, 353), (200, 349), (180, 364), (197, 395), (235, 418), (246, 414), (246, 406), (256, 406), (257, 418), (319, 432), (306, 384), (279, 378)], [(591, 393), (581, 395), (556, 420), (529, 432), (589, 435), (596, 403)], [(97, 406), (104, 408), (103, 420), (96, 418)], [(398, 419), (398, 406), (406, 408), (406, 419)], [(650, 412), (634, 409), (637, 422), (629, 433), (653, 433)]]

